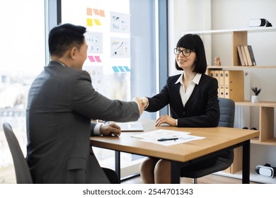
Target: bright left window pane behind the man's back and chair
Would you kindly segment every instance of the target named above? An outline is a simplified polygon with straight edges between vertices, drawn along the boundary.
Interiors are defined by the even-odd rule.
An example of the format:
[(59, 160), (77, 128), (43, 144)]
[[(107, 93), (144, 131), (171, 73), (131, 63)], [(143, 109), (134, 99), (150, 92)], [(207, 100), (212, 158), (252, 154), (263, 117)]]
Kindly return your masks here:
[(30, 83), (45, 66), (44, 1), (0, 2), (0, 182), (16, 182), (3, 122), (26, 151), (25, 107)]

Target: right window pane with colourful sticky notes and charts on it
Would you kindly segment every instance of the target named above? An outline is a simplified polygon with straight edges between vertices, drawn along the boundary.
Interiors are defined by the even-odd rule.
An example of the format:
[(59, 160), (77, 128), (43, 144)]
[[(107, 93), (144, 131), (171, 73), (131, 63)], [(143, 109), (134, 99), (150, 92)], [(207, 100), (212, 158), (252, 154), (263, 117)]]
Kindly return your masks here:
[[(111, 99), (127, 101), (134, 96), (156, 94), (158, 1), (91, 0), (78, 1), (77, 6), (76, 2), (62, 1), (61, 5), (62, 23), (86, 27), (88, 58), (83, 69), (91, 74), (96, 91)], [(142, 118), (156, 119), (156, 113), (144, 112)], [(114, 168), (114, 151), (93, 150), (100, 165)], [(122, 177), (137, 171), (140, 161), (140, 156), (122, 153), (121, 165), (125, 167)]]

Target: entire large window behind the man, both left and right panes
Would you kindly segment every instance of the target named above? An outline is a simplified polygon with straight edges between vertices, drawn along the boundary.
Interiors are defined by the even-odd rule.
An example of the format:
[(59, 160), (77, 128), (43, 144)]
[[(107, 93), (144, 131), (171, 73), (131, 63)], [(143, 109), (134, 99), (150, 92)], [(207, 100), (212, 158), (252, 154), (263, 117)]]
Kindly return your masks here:
[[(90, 48), (84, 69), (91, 73), (93, 86), (103, 95), (120, 100), (151, 96), (159, 91), (159, 83), (164, 85), (162, 76), (167, 76), (166, 0), (80, 0), (74, 3), (61, 0), (3, 0), (0, 3), (0, 17), (8, 18), (1, 22), (0, 42), (4, 46), (1, 54), (5, 59), (1, 60), (0, 67), (0, 124), (11, 124), (24, 154), (27, 94), (35, 76), (49, 62), (45, 43), (48, 31), (59, 23), (57, 21), (62, 19), (62, 23), (86, 26), (87, 40), (102, 39), (102, 45), (89, 41), (90, 47), (99, 47), (99, 51)], [(161, 6), (165, 7), (163, 11), (160, 11)], [(161, 17), (165, 19), (158, 21)], [(120, 42), (124, 43), (125, 51), (111, 48)], [(156, 113), (144, 112), (142, 118), (156, 119)], [(101, 150), (97, 151), (101, 165), (113, 165), (114, 152)], [(105, 152), (105, 158), (100, 158), (100, 152)], [(121, 158), (126, 175), (141, 161), (140, 156), (126, 153)], [(6, 170), (13, 172), (12, 163), (4, 132), (0, 132), (1, 182), (16, 182), (15, 176), (4, 176)]]

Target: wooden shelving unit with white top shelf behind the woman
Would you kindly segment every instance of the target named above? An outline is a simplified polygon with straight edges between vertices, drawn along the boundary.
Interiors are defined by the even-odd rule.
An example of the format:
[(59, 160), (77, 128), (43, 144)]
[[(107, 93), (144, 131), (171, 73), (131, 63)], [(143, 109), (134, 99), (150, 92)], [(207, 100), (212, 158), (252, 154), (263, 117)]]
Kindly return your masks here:
[[(194, 31), (194, 32), (184, 32), (182, 35), (192, 33), (197, 35), (211, 35), (220, 33), (231, 33), (231, 65), (229, 66), (208, 66), (207, 74), (210, 74), (210, 70), (242, 70), (250, 71), (250, 69), (276, 69), (275, 66), (241, 66), (239, 61), (237, 46), (238, 45), (248, 45), (248, 33), (263, 33), (263, 32), (276, 32), (276, 28), (266, 27), (266, 28), (248, 28), (248, 29), (232, 29), (232, 30), (207, 30), (207, 31)], [(229, 51), (230, 51), (229, 50)], [(251, 103), (251, 101), (235, 101), (236, 105), (239, 106), (250, 106), (259, 108), (259, 130), (260, 136), (256, 139), (251, 140), (251, 144), (260, 144), (266, 146), (276, 146), (276, 137), (274, 136), (274, 117), (275, 117), (275, 107), (276, 101), (262, 101), (260, 103)], [(250, 115), (248, 115), (250, 116)], [(235, 175), (241, 170), (241, 152), (242, 149), (236, 148), (234, 163), (224, 172), (226, 175)], [(254, 170), (253, 170), (254, 172)], [(222, 174), (224, 174), (222, 173)], [(235, 173), (235, 174), (234, 174)], [(255, 174), (255, 173), (253, 173)], [(275, 182), (275, 179), (272, 179)]]

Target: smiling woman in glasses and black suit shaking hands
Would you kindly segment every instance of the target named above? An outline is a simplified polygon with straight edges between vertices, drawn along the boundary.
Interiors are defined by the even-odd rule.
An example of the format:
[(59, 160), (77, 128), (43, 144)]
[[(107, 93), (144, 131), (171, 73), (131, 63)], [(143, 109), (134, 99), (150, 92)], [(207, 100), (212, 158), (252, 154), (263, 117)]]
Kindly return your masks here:
[[(176, 69), (182, 74), (170, 76), (166, 86), (152, 98), (143, 97), (148, 112), (156, 112), (170, 105), (171, 116), (162, 115), (156, 126), (170, 124), (173, 127), (217, 127), (219, 123), (219, 100), (217, 79), (207, 76), (205, 48), (198, 35), (184, 35), (176, 48)], [(194, 170), (213, 165), (217, 158), (208, 158), (185, 167), (181, 171)], [(159, 158), (147, 158), (140, 166), (145, 183), (170, 183), (171, 164)]]

